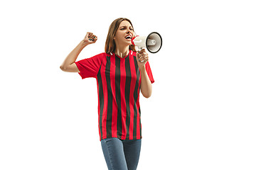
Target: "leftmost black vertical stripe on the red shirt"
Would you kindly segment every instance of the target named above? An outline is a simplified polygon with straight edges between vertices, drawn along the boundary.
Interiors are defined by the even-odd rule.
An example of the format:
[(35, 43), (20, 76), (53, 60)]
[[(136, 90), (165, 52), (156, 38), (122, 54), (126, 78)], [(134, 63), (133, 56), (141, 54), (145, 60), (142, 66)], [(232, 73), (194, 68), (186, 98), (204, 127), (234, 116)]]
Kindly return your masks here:
[[(101, 69), (101, 66), (100, 66)], [(97, 74), (97, 81), (98, 81), (98, 91), (99, 91), (99, 98), (100, 98), (100, 137), (102, 140), (102, 113), (104, 107), (104, 94), (103, 94), (103, 86), (102, 86), (102, 77), (100, 71)]]

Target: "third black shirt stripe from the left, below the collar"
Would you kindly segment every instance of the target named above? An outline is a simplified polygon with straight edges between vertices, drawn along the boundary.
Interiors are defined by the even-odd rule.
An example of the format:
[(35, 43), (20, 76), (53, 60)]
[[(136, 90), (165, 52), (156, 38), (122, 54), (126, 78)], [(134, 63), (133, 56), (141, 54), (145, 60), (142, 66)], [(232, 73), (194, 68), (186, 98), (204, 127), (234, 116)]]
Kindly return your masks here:
[(121, 89), (120, 89), (120, 58), (115, 56), (115, 89), (117, 100), (117, 137), (122, 137), (122, 111), (121, 111)]

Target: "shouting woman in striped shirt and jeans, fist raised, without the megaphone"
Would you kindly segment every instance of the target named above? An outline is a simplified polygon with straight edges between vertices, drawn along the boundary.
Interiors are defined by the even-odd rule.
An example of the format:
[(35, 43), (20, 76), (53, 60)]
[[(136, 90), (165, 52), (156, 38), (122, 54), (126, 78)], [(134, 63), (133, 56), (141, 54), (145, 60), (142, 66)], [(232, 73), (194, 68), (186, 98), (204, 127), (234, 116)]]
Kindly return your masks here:
[(96, 35), (87, 33), (60, 66), (64, 72), (78, 72), (82, 79), (97, 79), (99, 133), (108, 169), (137, 169), (139, 162), (139, 91), (149, 98), (154, 78), (148, 54), (136, 52), (132, 45), (134, 36), (132, 22), (117, 18), (110, 25), (105, 52), (75, 62), (84, 47), (97, 41)]

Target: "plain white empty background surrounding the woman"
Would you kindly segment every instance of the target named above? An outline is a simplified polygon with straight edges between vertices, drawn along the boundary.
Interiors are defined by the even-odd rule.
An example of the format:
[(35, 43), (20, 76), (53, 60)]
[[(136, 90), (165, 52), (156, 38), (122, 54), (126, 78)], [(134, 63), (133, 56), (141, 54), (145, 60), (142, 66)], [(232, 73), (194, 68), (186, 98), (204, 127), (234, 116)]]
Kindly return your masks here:
[(159, 32), (138, 170), (256, 169), (254, 1), (1, 1), (0, 169), (107, 169), (97, 84), (60, 64), (104, 52), (110, 23)]

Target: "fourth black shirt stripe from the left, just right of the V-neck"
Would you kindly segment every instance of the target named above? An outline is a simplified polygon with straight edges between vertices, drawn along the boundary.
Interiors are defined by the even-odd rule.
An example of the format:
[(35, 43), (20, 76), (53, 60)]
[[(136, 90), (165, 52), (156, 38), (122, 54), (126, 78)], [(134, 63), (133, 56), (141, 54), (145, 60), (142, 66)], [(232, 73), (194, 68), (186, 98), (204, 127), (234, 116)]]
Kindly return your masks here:
[(129, 94), (130, 94), (130, 88), (131, 88), (131, 67), (129, 64), (129, 55), (125, 58), (125, 72), (126, 72), (126, 80), (125, 80), (125, 102), (126, 102), (126, 108), (127, 108), (127, 118), (126, 118), (126, 126), (127, 126), (127, 136), (126, 139), (129, 139), (129, 124), (130, 124), (130, 108), (129, 108)]

